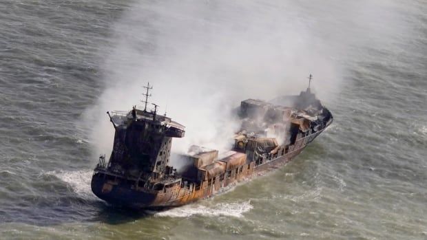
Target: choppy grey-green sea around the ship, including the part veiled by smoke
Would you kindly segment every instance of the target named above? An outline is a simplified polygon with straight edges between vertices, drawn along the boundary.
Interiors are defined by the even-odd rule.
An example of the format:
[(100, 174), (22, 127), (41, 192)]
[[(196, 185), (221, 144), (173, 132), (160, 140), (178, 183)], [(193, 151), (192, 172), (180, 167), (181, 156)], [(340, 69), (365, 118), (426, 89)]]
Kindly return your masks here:
[[(335, 122), (287, 166), (164, 212), (92, 194), (147, 81), (178, 151), (309, 74)], [(0, 135), (0, 239), (427, 239), (427, 2), (1, 0)]]

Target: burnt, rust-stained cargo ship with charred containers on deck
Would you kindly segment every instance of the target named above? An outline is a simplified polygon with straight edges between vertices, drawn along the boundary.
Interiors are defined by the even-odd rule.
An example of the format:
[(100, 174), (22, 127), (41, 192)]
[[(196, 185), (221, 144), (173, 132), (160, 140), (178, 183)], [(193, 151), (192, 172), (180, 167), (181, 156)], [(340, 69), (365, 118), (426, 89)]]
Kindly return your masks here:
[[(148, 90), (151, 89), (148, 85)], [(270, 102), (248, 99), (240, 104), (240, 131), (230, 151), (191, 146), (179, 156), (183, 169), (171, 166), (172, 138), (185, 127), (154, 111), (133, 107), (113, 113), (114, 146), (108, 162), (99, 158), (92, 176), (94, 194), (115, 206), (170, 208), (215, 195), (220, 190), (289, 162), (333, 122), (331, 112), (311, 93)]]

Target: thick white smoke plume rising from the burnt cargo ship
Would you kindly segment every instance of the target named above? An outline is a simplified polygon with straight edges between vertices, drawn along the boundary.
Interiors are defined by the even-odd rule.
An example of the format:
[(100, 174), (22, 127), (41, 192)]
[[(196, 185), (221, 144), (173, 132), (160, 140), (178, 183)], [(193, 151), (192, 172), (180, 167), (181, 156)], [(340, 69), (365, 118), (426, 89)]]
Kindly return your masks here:
[[(137, 1), (114, 26), (103, 67), (106, 89), (87, 110), (95, 153), (110, 154), (105, 111), (131, 109), (143, 85), (151, 102), (187, 127), (173, 151), (191, 144), (226, 149), (238, 124), (231, 109), (246, 98), (298, 94), (314, 74), (317, 89), (339, 79), (330, 47), (310, 30), (294, 1)], [(325, 47), (326, 46), (326, 47)]]

